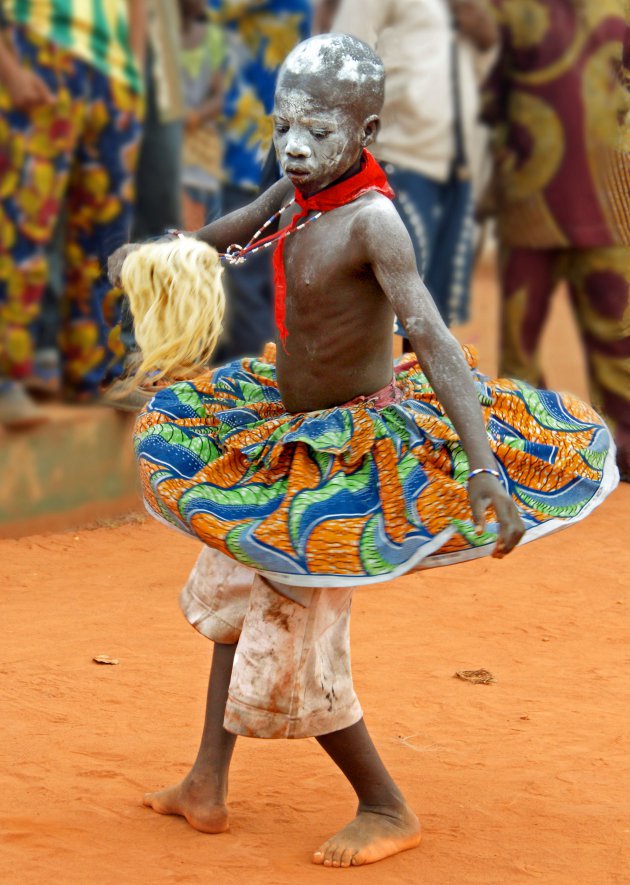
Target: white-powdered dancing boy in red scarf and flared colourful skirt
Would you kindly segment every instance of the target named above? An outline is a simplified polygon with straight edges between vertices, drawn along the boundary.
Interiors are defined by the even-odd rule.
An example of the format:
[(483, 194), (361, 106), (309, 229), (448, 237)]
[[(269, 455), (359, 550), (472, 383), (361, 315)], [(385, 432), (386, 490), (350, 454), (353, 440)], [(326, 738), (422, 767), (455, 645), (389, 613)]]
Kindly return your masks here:
[[(366, 150), (382, 100), (382, 64), (354, 38), (315, 37), (289, 55), (274, 108), (285, 178), (191, 235), (232, 260), (276, 244), (277, 350), (162, 390), (136, 427), (148, 507), (208, 545), (182, 603), (215, 642), (197, 759), (145, 803), (222, 832), (236, 736), (313, 736), (358, 797), (355, 818), (313, 855), (333, 867), (420, 841), (352, 687), (353, 587), (500, 557), (524, 533), (586, 515), (616, 482), (588, 406), (484, 379), (444, 326)], [(190, 319), (190, 287), (172, 271), (184, 254), (201, 266), (207, 249), (189, 238), (128, 247), (110, 268), (127, 289), (147, 248), (166, 265), (156, 258), (141, 288), (181, 297)], [(419, 361), (396, 374), (394, 313)]]

